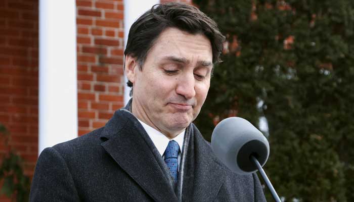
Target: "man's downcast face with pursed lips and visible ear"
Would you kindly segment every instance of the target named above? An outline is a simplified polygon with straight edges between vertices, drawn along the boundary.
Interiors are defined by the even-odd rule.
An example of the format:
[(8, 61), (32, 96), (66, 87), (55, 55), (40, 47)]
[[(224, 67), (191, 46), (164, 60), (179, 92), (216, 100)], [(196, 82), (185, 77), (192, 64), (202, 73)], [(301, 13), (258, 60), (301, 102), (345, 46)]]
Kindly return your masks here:
[(165, 29), (151, 47), (142, 70), (127, 56), (125, 71), (133, 83), (132, 113), (173, 138), (199, 114), (210, 85), (209, 39), (176, 28)]

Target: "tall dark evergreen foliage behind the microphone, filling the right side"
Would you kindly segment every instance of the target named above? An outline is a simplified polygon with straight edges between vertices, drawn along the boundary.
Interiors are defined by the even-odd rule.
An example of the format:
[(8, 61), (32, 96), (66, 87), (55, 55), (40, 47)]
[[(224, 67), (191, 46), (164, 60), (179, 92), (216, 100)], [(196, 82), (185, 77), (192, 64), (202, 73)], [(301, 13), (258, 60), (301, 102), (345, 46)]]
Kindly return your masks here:
[(195, 121), (205, 138), (213, 118), (264, 116), (279, 195), (354, 201), (354, 1), (194, 3), (229, 42)]

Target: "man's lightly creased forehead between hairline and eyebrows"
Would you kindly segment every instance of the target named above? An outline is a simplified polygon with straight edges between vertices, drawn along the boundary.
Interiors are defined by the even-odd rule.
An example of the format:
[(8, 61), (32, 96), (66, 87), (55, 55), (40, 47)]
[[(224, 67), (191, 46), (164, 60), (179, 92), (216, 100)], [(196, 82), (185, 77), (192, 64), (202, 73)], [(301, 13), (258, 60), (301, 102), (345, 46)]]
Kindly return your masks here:
[(211, 43), (203, 34), (191, 34), (177, 28), (167, 28), (154, 42), (147, 60), (148, 58), (158, 60), (166, 56), (212, 62)]

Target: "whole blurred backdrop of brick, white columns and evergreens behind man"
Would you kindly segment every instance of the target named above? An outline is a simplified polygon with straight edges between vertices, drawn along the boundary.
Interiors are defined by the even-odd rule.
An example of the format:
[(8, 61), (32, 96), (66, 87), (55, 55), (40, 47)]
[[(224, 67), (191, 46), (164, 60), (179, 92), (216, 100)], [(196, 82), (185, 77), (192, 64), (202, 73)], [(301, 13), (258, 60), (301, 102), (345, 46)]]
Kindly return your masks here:
[[(0, 1), (0, 201), (28, 200), (42, 148), (124, 106), (128, 29), (165, 2)], [(354, 2), (183, 2), (227, 37), (195, 120), (205, 138), (245, 118), (270, 141), (264, 170), (283, 201), (354, 201)]]

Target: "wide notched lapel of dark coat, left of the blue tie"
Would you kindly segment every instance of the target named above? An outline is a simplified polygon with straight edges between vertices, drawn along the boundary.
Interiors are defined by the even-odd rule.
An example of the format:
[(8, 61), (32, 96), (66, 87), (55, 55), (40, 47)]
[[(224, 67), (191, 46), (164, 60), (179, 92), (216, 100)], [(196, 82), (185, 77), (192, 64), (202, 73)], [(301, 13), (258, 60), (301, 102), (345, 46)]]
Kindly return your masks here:
[(155, 201), (178, 201), (170, 180), (159, 165), (139, 121), (125, 109), (118, 110), (106, 124), (101, 139), (107, 153)]

